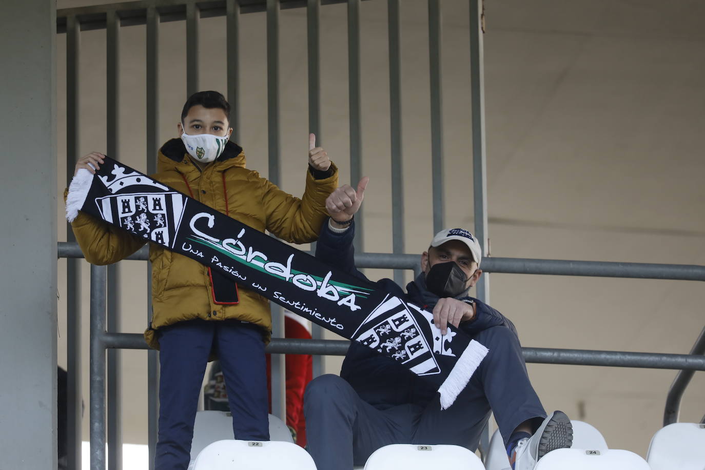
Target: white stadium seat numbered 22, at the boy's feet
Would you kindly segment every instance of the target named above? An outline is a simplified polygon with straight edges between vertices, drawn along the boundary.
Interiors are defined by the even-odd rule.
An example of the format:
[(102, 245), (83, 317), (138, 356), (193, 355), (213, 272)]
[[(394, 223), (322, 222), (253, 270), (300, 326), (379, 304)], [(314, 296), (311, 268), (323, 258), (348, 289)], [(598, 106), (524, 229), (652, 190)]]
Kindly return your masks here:
[(276, 440), (219, 440), (198, 454), (193, 470), (316, 470), (302, 447)]

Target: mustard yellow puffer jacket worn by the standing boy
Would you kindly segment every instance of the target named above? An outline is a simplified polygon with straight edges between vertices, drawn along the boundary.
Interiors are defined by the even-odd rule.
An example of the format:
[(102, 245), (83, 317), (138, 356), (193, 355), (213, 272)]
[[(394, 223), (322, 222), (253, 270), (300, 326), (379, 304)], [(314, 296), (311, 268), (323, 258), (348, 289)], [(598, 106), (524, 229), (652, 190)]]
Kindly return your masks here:
[[(288, 242), (307, 243), (317, 239), (327, 216), (326, 197), (338, 187), (338, 170), (333, 165), (331, 170), (331, 175), (317, 180), (307, 169), (306, 190), (299, 199), (283, 192), (257, 171), (247, 170), (245, 154), (232, 142), (201, 172), (186, 153), (183, 142), (173, 139), (161, 147), (158, 173), (152, 178), (252, 228), (269, 230)], [(141, 238), (82, 212), (71, 225), (85, 259), (92, 264), (115, 263), (145, 244)], [(262, 326), (264, 338), (269, 340), (271, 315), (267, 299), (238, 286), (238, 304), (215, 304), (206, 266), (152, 244), (149, 260), (152, 261), (152, 323), (145, 331), (145, 340), (150, 347), (159, 349), (155, 330), (191, 319), (249, 321)]]

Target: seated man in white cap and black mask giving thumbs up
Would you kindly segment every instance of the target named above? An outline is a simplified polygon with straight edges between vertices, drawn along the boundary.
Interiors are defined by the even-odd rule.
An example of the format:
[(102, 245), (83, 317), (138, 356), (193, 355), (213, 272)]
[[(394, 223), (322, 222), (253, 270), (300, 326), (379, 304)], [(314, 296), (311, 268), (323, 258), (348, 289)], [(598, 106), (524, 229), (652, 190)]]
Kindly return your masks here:
[[(365, 278), (355, 268), (353, 215), (360, 209), (367, 178), (357, 190), (344, 185), (326, 199), (329, 220), (316, 245), (317, 258)], [(477, 449), (494, 412), (515, 470), (533, 469), (551, 450), (570, 447), (572, 427), (563, 412), (546, 416), (527, 376), (516, 329), (498, 311), (468, 295), (482, 276), (482, 249), (462, 228), (441, 230), (421, 254), (422, 272), (407, 292), (391, 279), (377, 281), (408, 302), (433, 311), (489, 349), (455, 403), (441, 410), (439, 395), (397, 361), (353, 342), (341, 375), (309, 383), (304, 409), (308, 450), (319, 470), (350, 470), (390, 444), (453, 444)]]

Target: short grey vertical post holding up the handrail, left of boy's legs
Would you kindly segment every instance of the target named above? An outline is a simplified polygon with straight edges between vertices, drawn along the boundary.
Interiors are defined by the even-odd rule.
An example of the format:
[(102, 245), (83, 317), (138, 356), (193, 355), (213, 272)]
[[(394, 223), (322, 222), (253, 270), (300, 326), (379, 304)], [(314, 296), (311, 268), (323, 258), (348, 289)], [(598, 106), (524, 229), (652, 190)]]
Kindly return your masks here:
[(105, 266), (90, 267), (90, 468), (105, 470)]

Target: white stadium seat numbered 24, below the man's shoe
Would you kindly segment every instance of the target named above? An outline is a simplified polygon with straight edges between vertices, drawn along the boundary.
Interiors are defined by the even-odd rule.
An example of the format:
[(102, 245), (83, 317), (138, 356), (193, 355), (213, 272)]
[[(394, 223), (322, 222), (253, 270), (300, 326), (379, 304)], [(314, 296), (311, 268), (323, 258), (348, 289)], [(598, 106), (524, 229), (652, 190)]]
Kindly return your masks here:
[[(675, 470), (677, 467), (673, 467)], [(651, 470), (646, 460), (628, 450), (556, 449), (534, 470)], [(680, 469), (679, 469), (680, 470)]]

